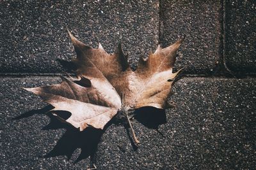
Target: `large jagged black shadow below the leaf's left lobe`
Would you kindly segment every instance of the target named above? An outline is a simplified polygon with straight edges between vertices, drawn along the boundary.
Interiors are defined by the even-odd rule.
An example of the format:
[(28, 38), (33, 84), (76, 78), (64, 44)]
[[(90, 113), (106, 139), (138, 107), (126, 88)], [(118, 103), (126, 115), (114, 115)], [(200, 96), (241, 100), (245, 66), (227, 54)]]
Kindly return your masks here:
[[(80, 160), (86, 159), (90, 156), (91, 163), (96, 160), (95, 153), (97, 151), (97, 146), (101, 139), (102, 134), (109, 127), (112, 122), (110, 121), (105, 125), (104, 129), (95, 129), (92, 127), (86, 128), (84, 131), (79, 131), (79, 129), (74, 128), (72, 125), (60, 122), (60, 120), (52, 115), (50, 110), (52, 106), (45, 106), (39, 110), (31, 110), (22, 115), (13, 118), (13, 120), (19, 120), (21, 118), (31, 117), (35, 114), (44, 114), (50, 118), (50, 123), (46, 125), (43, 130), (49, 131), (52, 129), (66, 129), (66, 132), (58, 140), (58, 143), (54, 146), (51, 152), (44, 155), (44, 157), (57, 157), (57, 156), (67, 156), (68, 159), (72, 157), (72, 154), (77, 148), (81, 148), (81, 153), (79, 157), (75, 160), (74, 163), (79, 162)], [(56, 113), (56, 111), (54, 111)], [(58, 115), (61, 115), (61, 118), (67, 119), (70, 117), (71, 113), (68, 111), (58, 111)]]

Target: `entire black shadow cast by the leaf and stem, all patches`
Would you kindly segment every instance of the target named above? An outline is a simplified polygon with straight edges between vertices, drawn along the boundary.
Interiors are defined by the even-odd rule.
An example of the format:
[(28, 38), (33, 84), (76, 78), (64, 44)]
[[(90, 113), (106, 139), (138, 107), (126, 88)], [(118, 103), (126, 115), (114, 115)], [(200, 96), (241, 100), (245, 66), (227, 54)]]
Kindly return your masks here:
[[(31, 110), (22, 115), (15, 117), (13, 119), (19, 120), (21, 118), (31, 117), (35, 114), (44, 114), (50, 118), (50, 123), (45, 125), (43, 130), (49, 131), (53, 129), (66, 129), (66, 132), (58, 140), (57, 144), (51, 150), (51, 152), (44, 155), (44, 157), (58, 157), (67, 156), (70, 159), (77, 148), (81, 148), (81, 153), (74, 163), (80, 160), (86, 159), (90, 156), (91, 164), (96, 163), (96, 152), (99, 145), (102, 134), (108, 129), (109, 125), (115, 124), (115, 117), (112, 118), (108, 124), (105, 125), (104, 129), (95, 129), (93, 127), (88, 127), (84, 131), (79, 131), (70, 124), (63, 123), (60, 119), (52, 115), (52, 106), (45, 106), (42, 109)], [(71, 113), (68, 111), (54, 111), (61, 118), (67, 120)], [(134, 112), (134, 118), (138, 120), (141, 124), (145, 125), (149, 129), (156, 129), (158, 131), (158, 126), (166, 123), (166, 115), (164, 110), (159, 110), (152, 107), (144, 107), (136, 110)], [(127, 131), (129, 140), (131, 141), (133, 150), (137, 150), (138, 146), (134, 144), (129, 132), (128, 124), (124, 124)], [(159, 132), (159, 131), (158, 131)], [(161, 134), (161, 132), (159, 132)], [(161, 134), (163, 136), (163, 134)]]

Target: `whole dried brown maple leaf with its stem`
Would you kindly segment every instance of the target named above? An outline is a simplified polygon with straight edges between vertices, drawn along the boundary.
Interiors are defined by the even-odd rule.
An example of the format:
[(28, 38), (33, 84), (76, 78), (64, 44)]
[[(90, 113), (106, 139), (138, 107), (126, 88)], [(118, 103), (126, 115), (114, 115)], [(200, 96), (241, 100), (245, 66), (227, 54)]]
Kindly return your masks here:
[[(103, 129), (118, 111), (144, 106), (166, 108), (173, 79), (179, 73), (172, 73), (172, 68), (182, 40), (166, 48), (158, 46), (148, 59), (140, 59), (138, 69), (132, 71), (121, 44), (109, 55), (100, 44), (94, 49), (69, 34), (77, 53), (72, 62), (79, 80), (61, 76), (60, 84), (26, 89), (54, 106), (52, 111), (72, 113), (65, 122), (80, 131), (88, 126)], [(135, 135), (134, 140), (139, 143)]]

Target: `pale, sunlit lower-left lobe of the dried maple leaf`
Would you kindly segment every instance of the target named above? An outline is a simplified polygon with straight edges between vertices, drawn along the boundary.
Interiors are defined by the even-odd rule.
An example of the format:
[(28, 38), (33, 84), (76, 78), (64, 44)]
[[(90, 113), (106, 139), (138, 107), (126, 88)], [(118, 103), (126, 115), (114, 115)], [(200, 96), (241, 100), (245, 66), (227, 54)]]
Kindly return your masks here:
[[(29, 90), (42, 97), (46, 103), (54, 106), (54, 110), (70, 111), (72, 115), (66, 121), (83, 131), (88, 125), (103, 129), (118, 109), (121, 99), (108, 83), (101, 88), (82, 87), (62, 78), (62, 83)], [(102, 82), (104, 84), (104, 82)]]

